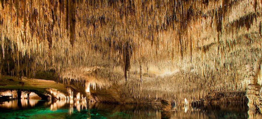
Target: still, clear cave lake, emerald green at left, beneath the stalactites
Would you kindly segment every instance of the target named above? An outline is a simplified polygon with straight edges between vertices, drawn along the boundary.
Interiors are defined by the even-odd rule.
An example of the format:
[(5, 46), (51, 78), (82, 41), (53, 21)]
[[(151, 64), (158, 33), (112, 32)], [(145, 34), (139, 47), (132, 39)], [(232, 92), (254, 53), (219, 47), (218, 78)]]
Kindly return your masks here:
[[(248, 113), (246, 104), (205, 104), (172, 107), (171, 119), (258, 118)], [(159, 119), (160, 104), (105, 104), (88, 101), (13, 100), (0, 104), (0, 118), (48, 119)]]

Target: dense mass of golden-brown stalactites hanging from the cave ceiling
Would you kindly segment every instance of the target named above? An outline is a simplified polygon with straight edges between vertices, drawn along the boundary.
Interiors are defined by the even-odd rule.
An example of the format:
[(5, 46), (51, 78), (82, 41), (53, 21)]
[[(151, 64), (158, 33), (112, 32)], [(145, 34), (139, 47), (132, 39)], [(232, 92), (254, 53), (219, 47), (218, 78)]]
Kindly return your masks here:
[(261, 61), (261, 0), (0, 3), (0, 75), (54, 71), (99, 88), (125, 80), (126, 96), (178, 102), (245, 90), (245, 65)]

